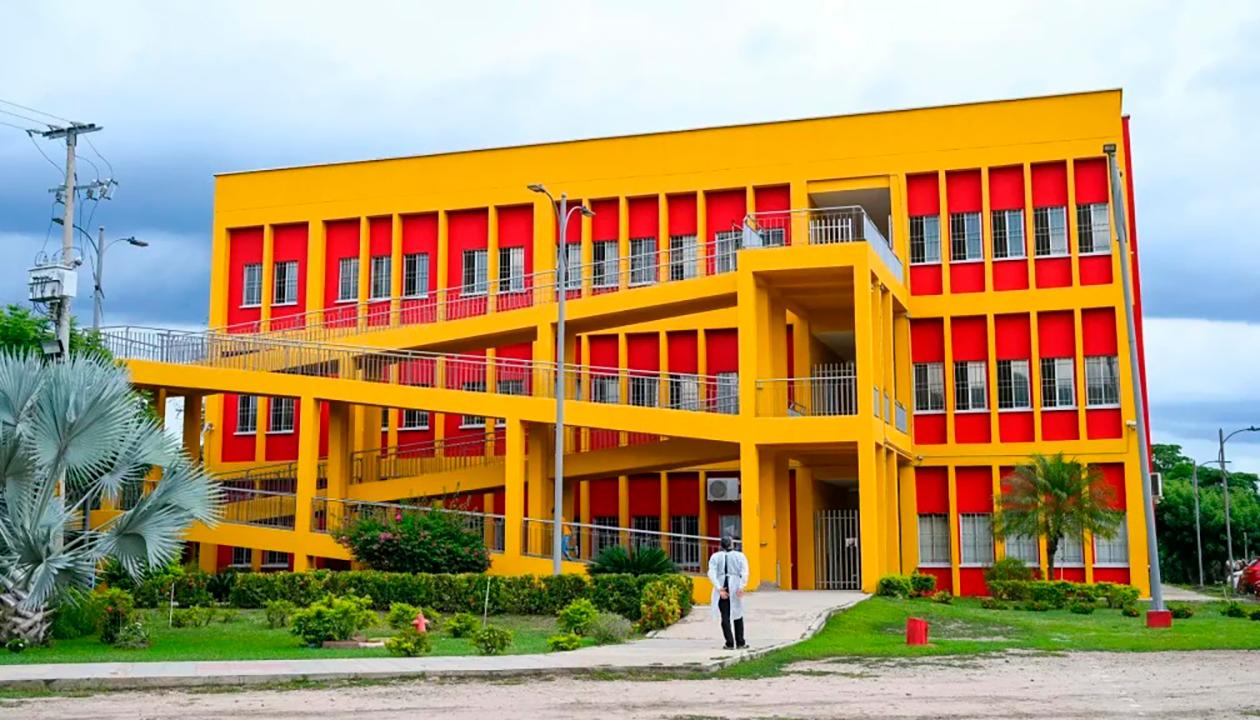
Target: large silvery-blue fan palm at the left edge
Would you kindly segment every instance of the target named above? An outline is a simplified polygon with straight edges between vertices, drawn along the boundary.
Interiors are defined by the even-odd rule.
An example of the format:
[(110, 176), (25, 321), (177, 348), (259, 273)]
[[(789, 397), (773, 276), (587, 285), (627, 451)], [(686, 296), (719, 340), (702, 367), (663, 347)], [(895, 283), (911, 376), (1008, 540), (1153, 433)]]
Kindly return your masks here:
[[(0, 354), (0, 639), (42, 641), (49, 604), (89, 585), (102, 559), (140, 575), (174, 560), (194, 521), (214, 521), (218, 485), (142, 402), (106, 359)], [(154, 468), (161, 482), (142, 493)], [(125, 497), (131, 507), (82, 528), (100, 499)]]

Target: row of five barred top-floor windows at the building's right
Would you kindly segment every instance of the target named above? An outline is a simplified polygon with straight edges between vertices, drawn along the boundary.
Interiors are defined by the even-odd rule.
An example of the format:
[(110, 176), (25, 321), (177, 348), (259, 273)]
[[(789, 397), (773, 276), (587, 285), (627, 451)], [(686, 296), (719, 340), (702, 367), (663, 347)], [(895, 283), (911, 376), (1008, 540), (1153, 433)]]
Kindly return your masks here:
[[(1076, 207), (1079, 255), (1105, 255), (1111, 251), (1111, 224), (1106, 203)], [(949, 214), (950, 262), (984, 260), (984, 227), (978, 212)], [(990, 257), (1014, 260), (1027, 257), (1023, 209), (1002, 209), (990, 213)], [(1068, 252), (1067, 208), (1033, 209), (1033, 255), (1062, 257)], [(910, 218), (910, 262), (935, 265), (941, 261), (941, 228), (939, 214)]]

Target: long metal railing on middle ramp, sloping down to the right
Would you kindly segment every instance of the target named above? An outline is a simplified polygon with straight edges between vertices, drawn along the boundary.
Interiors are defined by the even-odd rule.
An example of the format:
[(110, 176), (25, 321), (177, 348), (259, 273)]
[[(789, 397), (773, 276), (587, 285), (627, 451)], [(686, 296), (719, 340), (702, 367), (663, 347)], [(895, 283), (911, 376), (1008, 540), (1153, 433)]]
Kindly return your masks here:
[[(101, 332), (101, 340), (121, 359), (441, 387), (496, 396), (551, 398), (559, 377), (566, 397), (576, 401), (696, 412), (731, 412), (732, 392), (738, 387), (733, 373), (667, 376), (656, 371), (381, 351), (213, 330), (107, 328)], [(493, 378), (489, 385), (488, 378)]]

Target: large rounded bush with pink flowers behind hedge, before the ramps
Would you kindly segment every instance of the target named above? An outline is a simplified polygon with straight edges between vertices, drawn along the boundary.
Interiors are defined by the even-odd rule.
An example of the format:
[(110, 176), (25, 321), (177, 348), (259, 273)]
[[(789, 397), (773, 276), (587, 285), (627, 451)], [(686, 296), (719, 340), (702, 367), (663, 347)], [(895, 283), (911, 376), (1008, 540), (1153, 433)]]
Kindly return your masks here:
[(484, 572), (490, 566), (485, 536), (459, 516), (437, 509), (364, 516), (335, 533), (355, 560), (393, 572)]

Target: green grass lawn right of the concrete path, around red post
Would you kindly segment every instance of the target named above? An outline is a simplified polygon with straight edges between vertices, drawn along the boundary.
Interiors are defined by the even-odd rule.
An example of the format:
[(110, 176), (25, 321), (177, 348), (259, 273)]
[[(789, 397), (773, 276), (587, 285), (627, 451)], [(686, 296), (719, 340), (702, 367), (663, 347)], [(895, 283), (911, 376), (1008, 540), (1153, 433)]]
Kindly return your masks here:
[[(1033, 613), (985, 610), (974, 599), (951, 605), (929, 600), (871, 598), (837, 614), (813, 638), (723, 671), (730, 677), (772, 675), (796, 661), (835, 657), (917, 657), (1026, 651), (1189, 651), (1260, 649), (1260, 622), (1221, 615), (1222, 603), (1184, 603), (1194, 617), (1150, 630), (1144, 618), (1097, 609), (1091, 615), (1067, 610)], [(1145, 608), (1143, 607), (1143, 610)], [(906, 644), (906, 618), (927, 620), (927, 646)], [(750, 618), (756, 637), (756, 619)]]

